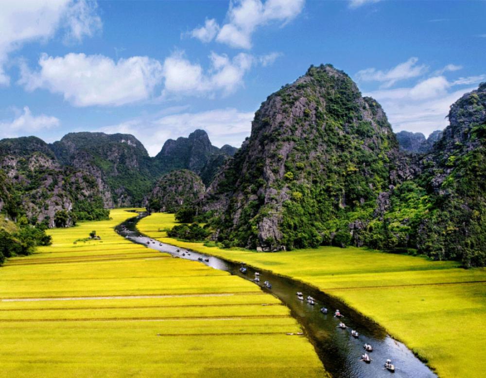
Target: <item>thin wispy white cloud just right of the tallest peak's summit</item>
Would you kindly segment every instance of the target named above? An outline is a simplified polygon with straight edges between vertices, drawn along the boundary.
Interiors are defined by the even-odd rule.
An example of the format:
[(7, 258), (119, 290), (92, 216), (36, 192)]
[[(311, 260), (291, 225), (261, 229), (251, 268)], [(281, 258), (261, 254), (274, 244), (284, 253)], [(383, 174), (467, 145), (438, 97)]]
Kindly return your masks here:
[(358, 81), (377, 81), (382, 82), (384, 88), (393, 86), (400, 80), (410, 79), (423, 75), (428, 67), (425, 65), (417, 66), (418, 58), (412, 57), (406, 62), (387, 71), (377, 70), (374, 68), (362, 69), (356, 73)]

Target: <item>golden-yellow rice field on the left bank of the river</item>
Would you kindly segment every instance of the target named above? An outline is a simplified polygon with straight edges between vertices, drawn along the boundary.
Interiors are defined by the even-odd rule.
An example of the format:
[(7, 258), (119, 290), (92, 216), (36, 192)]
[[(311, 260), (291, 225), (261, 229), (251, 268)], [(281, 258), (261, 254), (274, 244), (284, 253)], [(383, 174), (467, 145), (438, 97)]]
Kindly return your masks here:
[(133, 213), (110, 216), (0, 268), (2, 377), (326, 375), (277, 298), (127, 241), (113, 227)]

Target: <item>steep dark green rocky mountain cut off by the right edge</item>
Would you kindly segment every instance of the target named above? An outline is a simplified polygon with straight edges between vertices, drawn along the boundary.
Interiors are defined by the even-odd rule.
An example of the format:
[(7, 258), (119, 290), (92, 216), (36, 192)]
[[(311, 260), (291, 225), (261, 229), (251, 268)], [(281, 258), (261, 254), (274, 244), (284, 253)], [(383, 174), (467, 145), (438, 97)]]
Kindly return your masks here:
[(486, 83), (451, 106), (450, 125), (423, 160), (429, 193), (417, 246), (435, 258), (486, 264)]

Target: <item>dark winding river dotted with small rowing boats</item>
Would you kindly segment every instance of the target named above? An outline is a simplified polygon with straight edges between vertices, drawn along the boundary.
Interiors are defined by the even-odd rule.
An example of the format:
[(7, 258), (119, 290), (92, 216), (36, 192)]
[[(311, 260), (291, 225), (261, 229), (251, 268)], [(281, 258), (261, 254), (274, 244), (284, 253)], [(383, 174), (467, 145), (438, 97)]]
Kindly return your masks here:
[[(169, 253), (174, 257), (206, 264), (252, 282), (254, 282), (255, 272), (258, 271), (260, 282), (254, 282), (255, 285), (258, 284), (261, 290), (278, 297), (290, 309), (292, 316), (301, 324), (314, 345), (326, 370), (333, 377), (375, 378), (390, 377), (390, 375), (413, 378), (436, 377), (404, 344), (391, 338), (381, 326), (370, 322), (369, 319), (348, 308), (339, 300), (291, 278), (255, 270), (250, 266), (247, 266), (247, 272), (243, 274), (240, 272), (240, 264), (155, 241), (142, 235), (136, 227), (139, 220), (145, 216), (147, 214), (140, 214), (138, 217), (121, 223), (116, 227), (117, 232), (121, 236), (128, 237), (127, 239), (130, 241)], [(266, 288), (263, 285), (264, 281), (269, 281), (272, 288)], [(316, 300), (315, 305), (307, 304), (305, 299), (304, 301), (298, 300), (296, 292), (302, 292), (304, 298), (311, 295)], [(322, 307), (329, 310), (328, 314), (320, 311)], [(340, 321), (333, 316), (335, 309), (340, 309), (344, 315), (342, 321), (346, 324), (346, 329), (337, 327)], [(358, 338), (351, 335), (353, 329), (359, 332)], [(361, 361), (365, 343), (373, 346), (373, 351), (369, 353), (371, 363)], [(383, 368), (384, 361), (387, 359), (392, 360), (395, 365), (395, 373)]]

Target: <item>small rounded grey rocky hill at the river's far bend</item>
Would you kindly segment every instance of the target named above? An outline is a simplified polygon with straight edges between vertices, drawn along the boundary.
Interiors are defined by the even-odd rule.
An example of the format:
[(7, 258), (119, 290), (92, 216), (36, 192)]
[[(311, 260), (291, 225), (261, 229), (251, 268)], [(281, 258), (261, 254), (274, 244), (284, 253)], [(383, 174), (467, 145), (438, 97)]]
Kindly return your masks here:
[(147, 206), (152, 211), (174, 213), (183, 206), (194, 206), (203, 198), (205, 191), (204, 183), (194, 172), (172, 171), (157, 181)]

